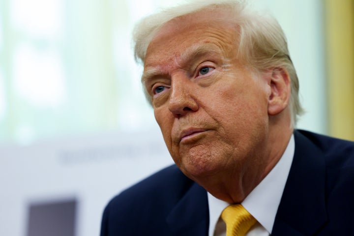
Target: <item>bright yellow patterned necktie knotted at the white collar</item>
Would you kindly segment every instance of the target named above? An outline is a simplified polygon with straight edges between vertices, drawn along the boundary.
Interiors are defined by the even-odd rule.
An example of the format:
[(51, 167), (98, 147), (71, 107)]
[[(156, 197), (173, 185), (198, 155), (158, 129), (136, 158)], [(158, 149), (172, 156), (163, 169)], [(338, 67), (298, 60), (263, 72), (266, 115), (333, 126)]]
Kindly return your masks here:
[(226, 236), (244, 236), (257, 220), (241, 204), (230, 205), (221, 213)]

